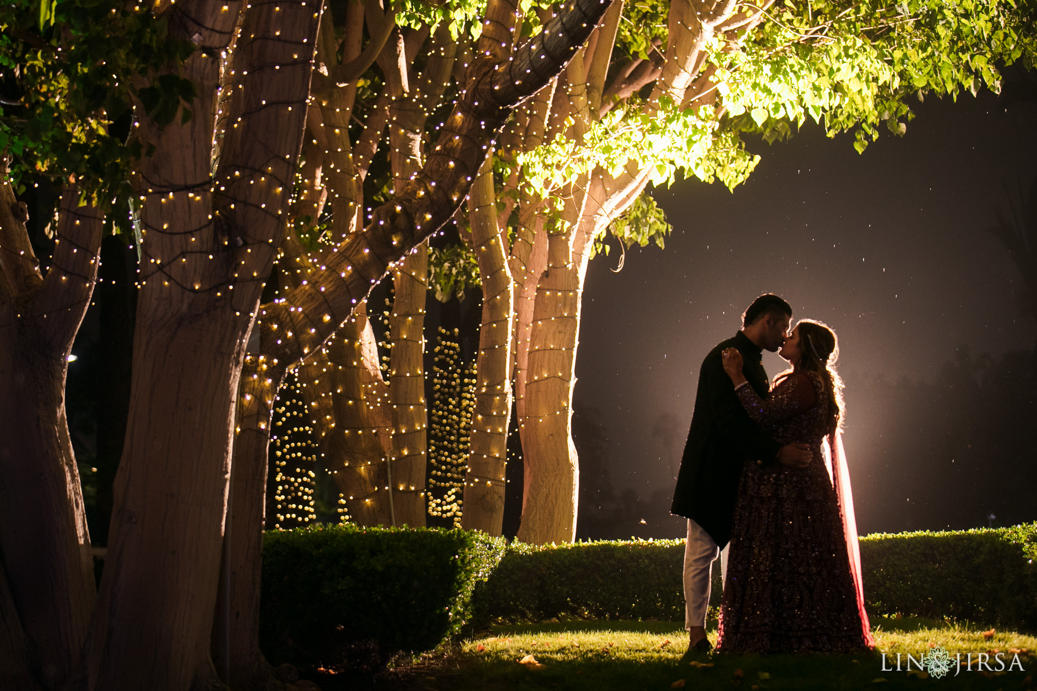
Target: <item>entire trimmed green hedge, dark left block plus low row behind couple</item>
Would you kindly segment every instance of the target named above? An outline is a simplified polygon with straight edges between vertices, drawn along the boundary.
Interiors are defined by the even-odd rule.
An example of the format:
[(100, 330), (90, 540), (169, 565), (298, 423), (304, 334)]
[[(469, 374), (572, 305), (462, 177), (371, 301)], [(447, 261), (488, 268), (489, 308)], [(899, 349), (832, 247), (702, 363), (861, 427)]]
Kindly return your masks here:
[[(426, 528), (268, 532), (261, 644), (274, 664), (341, 666), (366, 656), (377, 665), (493, 623), (679, 622), (683, 551), (682, 540), (536, 547)], [(872, 535), (861, 539), (861, 558), (872, 616), (1037, 630), (1037, 523)], [(720, 596), (718, 574), (710, 604)]]

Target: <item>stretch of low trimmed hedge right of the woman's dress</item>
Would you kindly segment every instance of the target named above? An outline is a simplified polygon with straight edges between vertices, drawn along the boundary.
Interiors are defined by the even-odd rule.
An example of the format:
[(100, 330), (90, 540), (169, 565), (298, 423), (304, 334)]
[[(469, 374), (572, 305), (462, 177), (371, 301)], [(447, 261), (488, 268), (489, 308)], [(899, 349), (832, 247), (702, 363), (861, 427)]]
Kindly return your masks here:
[(868, 611), (1037, 629), (1037, 523), (861, 539)]

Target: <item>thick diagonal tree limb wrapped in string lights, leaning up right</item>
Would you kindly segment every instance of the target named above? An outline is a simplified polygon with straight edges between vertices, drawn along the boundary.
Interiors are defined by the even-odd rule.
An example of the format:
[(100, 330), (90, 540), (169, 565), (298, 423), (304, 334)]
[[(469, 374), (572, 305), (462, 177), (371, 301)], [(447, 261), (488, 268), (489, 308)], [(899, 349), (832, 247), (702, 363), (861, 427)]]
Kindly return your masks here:
[(391, 262), (450, 220), (508, 116), (568, 64), (610, 4), (574, 0), (512, 60), (480, 56), (469, 64), (466, 89), (422, 170), (374, 210), (363, 233), (330, 253), (313, 281), (260, 309), (257, 327), (270, 344), (264, 351), (285, 362), (305, 357), (348, 318)]

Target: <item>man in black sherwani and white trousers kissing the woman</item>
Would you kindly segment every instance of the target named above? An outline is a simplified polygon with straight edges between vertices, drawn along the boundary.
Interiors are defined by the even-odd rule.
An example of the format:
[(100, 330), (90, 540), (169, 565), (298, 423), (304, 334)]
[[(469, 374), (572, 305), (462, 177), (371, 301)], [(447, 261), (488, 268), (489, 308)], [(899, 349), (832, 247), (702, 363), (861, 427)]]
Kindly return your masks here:
[(741, 330), (710, 350), (702, 362), (692, 429), (670, 510), (688, 519), (684, 547), (688, 655), (711, 647), (705, 631), (709, 574), (712, 563), (731, 539), (731, 520), (744, 464), (779, 462), (803, 467), (811, 459), (807, 444), (782, 447), (750, 420), (721, 361), (725, 348), (737, 348), (745, 361), (746, 379), (761, 398), (766, 398), (769, 386), (761, 355), (764, 349), (775, 352), (784, 343), (792, 308), (778, 295), (767, 293), (757, 297), (741, 319)]

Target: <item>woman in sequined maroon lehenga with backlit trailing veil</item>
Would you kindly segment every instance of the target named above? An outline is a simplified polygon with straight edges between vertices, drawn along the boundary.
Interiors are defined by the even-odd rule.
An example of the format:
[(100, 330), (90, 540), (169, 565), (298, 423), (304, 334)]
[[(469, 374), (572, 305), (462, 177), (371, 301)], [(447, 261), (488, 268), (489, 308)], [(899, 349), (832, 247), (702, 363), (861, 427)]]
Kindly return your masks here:
[[(792, 370), (779, 375), (766, 400), (741, 384), (741, 356), (729, 350), (734, 352), (724, 352), (724, 369), (753, 421), (781, 443), (809, 443), (814, 458), (804, 468), (746, 464), (717, 650), (846, 653), (871, 647), (839, 438), (836, 336), (819, 322), (801, 321), (779, 351)], [(831, 471), (829, 449), (835, 450)]]

